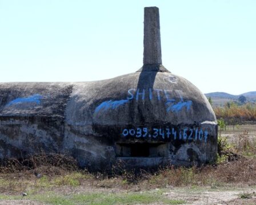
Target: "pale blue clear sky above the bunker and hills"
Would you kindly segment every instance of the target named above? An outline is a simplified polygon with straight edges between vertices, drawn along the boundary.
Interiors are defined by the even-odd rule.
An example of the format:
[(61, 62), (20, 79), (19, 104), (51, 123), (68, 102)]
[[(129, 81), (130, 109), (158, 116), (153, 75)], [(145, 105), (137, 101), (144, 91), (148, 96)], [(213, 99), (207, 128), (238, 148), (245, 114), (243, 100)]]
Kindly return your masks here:
[(256, 1), (0, 0), (0, 82), (92, 81), (137, 71), (143, 7), (162, 62), (202, 92), (256, 91)]

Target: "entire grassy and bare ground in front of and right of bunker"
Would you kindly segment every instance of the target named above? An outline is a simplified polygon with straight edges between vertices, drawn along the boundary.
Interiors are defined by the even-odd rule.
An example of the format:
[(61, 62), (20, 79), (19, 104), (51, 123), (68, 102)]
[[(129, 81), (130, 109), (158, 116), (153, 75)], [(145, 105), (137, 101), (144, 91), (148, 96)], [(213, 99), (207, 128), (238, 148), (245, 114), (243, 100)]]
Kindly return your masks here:
[(256, 125), (222, 127), (218, 146), (214, 165), (154, 173), (89, 173), (58, 154), (2, 162), (0, 204), (255, 204)]

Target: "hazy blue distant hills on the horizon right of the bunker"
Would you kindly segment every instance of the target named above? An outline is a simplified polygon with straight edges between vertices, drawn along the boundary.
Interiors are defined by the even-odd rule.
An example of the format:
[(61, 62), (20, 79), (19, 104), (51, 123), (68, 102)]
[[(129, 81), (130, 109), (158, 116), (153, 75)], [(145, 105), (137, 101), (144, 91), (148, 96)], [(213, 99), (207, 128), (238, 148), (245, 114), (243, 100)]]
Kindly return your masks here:
[[(241, 95), (245, 96), (249, 102), (256, 102), (256, 91), (242, 93)], [(238, 98), (241, 95), (231, 95), (225, 92), (212, 92), (205, 94), (207, 98), (211, 97), (213, 106), (222, 106), (229, 101), (238, 101)]]

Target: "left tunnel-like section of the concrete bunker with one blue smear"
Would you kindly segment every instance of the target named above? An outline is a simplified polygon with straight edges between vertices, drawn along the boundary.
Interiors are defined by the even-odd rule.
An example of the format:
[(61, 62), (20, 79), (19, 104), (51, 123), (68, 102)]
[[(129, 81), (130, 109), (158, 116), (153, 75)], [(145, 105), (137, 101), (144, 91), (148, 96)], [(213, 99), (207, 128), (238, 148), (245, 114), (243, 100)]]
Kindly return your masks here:
[(0, 158), (62, 146), (69, 83), (0, 84)]

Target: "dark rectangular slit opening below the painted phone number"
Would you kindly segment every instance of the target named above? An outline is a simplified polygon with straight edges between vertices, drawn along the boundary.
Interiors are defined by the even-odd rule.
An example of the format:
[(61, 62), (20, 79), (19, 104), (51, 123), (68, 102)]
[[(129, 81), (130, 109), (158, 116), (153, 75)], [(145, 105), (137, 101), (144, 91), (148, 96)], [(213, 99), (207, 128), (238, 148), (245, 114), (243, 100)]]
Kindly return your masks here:
[(116, 157), (165, 157), (169, 154), (167, 143), (120, 143)]

